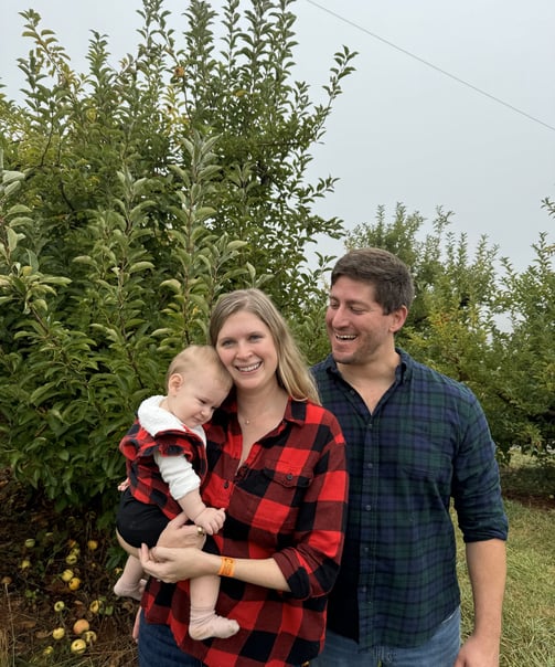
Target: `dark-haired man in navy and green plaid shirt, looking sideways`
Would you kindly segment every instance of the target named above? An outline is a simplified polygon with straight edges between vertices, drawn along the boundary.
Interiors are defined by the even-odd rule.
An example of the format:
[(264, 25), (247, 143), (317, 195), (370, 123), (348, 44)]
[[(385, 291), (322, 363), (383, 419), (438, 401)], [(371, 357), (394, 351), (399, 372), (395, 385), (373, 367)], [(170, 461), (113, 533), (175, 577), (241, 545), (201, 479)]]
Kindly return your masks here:
[[(331, 354), (312, 370), (348, 444), (349, 521), (328, 633), (311, 667), (497, 667), (506, 516), (473, 393), (395, 347), (414, 297), (395, 255), (355, 250), (332, 271)], [(453, 499), (474, 626), (460, 646)]]

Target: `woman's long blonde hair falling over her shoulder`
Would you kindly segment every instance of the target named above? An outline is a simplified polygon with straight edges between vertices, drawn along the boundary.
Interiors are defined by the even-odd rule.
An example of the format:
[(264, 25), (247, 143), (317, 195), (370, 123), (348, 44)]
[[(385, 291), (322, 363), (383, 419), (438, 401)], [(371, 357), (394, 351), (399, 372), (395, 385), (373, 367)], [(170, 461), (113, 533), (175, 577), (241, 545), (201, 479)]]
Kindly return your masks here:
[(246, 310), (256, 316), (270, 330), (277, 352), (277, 378), (287, 393), (297, 401), (310, 400), (320, 404), (316, 382), (295, 339), (271, 299), (259, 289), (236, 289), (217, 300), (210, 318), (209, 336), (216, 347), (217, 336), (227, 318)]

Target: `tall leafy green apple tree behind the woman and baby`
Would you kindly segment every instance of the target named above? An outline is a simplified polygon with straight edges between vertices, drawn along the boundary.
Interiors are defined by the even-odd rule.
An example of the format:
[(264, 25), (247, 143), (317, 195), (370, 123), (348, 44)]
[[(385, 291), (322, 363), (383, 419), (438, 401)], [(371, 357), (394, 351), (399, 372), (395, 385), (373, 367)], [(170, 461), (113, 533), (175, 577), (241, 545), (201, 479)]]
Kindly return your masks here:
[[(71, 67), (40, 15), (23, 99), (0, 91), (0, 460), (60, 507), (114, 506), (117, 444), (222, 292), (262, 285), (299, 320), (319, 284), (307, 178), (354, 54), (321, 99), (293, 78), (292, 0), (143, 0), (135, 53), (93, 33)], [(321, 264), (325, 264), (322, 257)]]

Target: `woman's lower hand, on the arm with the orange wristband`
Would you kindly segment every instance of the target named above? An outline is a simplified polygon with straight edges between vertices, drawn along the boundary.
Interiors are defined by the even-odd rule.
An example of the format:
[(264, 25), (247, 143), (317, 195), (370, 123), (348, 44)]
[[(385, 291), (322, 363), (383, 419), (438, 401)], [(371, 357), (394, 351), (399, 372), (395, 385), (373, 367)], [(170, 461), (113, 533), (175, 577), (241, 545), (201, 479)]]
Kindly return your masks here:
[(145, 572), (166, 583), (175, 583), (177, 581), (207, 574), (210, 571), (206, 561), (210, 558), (210, 554), (191, 547), (184, 549), (154, 547), (149, 549), (146, 544), (142, 544), (139, 551), (139, 559)]

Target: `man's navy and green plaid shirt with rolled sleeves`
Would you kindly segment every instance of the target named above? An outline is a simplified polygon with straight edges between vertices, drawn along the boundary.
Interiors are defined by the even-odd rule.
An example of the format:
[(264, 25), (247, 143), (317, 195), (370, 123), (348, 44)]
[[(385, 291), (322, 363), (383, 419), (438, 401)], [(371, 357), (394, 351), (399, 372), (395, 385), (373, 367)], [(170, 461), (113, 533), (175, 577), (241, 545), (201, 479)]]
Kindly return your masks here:
[(460, 602), (451, 497), (465, 541), (506, 539), (494, 444), (463, 384), (403, 350), (371, 414), (331, 357), (313, 367), (346, 441), (349, 521), (328, 627), (359, 642), (418, 646)]

